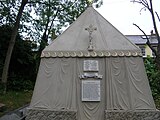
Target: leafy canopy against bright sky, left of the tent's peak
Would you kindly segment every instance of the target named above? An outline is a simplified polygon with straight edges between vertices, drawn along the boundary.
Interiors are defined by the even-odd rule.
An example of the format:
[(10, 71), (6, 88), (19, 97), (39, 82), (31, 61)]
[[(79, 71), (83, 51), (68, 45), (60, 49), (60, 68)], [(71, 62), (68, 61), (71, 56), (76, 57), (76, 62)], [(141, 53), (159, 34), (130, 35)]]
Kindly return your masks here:
[[(103, 0), (94, 2), (99, 7)], [(73, 23), (88, 4), (88, 0), (30, 0), (21, 18), (19, 33), (38, 42), (43, 40), (43, 35), (51, 40), (53, 34), (61, 34)], [(13, 25), (19, 7), (19, 0), (0, 1), (0, 25)]]

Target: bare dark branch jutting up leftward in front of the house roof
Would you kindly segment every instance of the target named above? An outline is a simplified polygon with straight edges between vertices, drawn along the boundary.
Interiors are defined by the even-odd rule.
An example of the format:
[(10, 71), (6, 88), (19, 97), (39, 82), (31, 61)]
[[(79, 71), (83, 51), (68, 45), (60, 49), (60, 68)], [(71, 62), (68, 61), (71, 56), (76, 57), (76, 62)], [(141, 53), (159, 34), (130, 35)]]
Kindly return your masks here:
[(151, 43), (150, 43), (149, 38), (148, 38), (148, 36), (146, 35), (146, 33), (145, 33), (137, 24), (133, 23), (133, 25), (136, 26), (136, 27), (144, 34), (144, 36), (145, 36), (146, 39), (147, 39), (146, 44), (149, 46), (149, 48), (150, 48), (150, 49), (154, 52), (154, 54), (157, 56), (157, 51), (151, 46)]

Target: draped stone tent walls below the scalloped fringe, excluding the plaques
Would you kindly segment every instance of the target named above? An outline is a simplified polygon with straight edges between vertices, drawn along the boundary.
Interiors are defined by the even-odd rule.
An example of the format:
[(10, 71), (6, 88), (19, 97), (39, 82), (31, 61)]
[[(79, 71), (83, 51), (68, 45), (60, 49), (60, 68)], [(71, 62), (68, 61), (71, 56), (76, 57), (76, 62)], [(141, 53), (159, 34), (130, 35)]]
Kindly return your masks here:
[[(100, 102), (81, 100), (84, 60), (99, 63)], [(42, 58), (30, 108), (74, 110), (78, 120), (103, 120), (105, 110), (155, 110), (155, 105), (141, 57), (82, 57)]]

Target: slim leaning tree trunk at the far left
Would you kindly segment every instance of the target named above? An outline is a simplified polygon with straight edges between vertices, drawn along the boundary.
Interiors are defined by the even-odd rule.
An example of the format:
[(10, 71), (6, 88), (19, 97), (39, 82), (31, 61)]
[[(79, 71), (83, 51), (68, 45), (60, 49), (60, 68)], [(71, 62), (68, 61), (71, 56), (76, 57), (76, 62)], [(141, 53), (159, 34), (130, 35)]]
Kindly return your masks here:
[(17, 36), (19, 24), (20, 24), (20, 18), (22, 16), (24, 7), (27, 4), (27, 2), (28, 2), (28, 0), (22, 0), (22, 2), (21, 2), (21, 6), (19, 8), (18, 15), (16, 17), (16, 22), (13, 27), (11, 39), (9, 42), (9, 46), (8, 46), (8, 50), (7, 50), (7, 54), (6, 54), (6, 59), (5, 59), (4, 67), (3, 67), (3, 73), (2, 73), (2, 84), (3, 84), (3, 88), (4, 88), (3, 89), (4, 94), (7, 91), (8, 69), (9, 69), (10, 59), (11, 59), (12, 51), (13, 51), (13, 48), (15, 45), (15, 40), (16, 40), (16, 36)]

